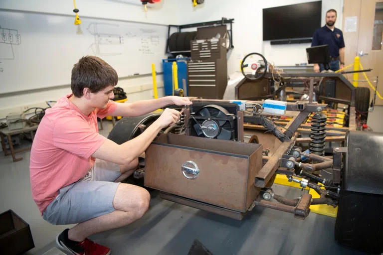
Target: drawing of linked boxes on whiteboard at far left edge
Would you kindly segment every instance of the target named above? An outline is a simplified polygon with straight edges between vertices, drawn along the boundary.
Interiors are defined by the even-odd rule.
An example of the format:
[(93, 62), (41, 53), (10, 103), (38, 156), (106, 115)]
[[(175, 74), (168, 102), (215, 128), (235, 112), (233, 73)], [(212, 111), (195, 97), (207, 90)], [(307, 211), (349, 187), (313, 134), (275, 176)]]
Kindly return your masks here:
[(13, 45), (21, 44), (21, 36), (16, 29), (2, 28), (0, 26), (0, 59), (13, 60)]

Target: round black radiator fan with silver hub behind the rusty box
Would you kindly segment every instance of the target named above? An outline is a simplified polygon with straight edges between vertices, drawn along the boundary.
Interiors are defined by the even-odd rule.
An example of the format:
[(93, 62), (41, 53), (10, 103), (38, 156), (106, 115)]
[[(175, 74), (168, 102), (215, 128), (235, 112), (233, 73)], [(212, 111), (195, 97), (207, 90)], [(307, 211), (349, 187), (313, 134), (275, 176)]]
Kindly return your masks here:
[(196, 136), (234, 139), (234, 115), (217, 105), (208, 105), (191, 114)]

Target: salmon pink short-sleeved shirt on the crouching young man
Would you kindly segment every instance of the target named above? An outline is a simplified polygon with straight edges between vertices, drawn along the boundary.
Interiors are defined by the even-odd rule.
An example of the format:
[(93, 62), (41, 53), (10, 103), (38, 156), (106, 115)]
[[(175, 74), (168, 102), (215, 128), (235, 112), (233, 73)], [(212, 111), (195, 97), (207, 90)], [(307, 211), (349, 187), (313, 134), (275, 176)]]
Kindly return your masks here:
[(94, 164), (91, 155), (105, 142), (98, 133), (97, 117), (111, 115), (117, 104), (85, 116), (67, 95), (47, 110), (34, 136), (30, 152), (32, 197), (41, 213), (59, 189), (83, 178)]

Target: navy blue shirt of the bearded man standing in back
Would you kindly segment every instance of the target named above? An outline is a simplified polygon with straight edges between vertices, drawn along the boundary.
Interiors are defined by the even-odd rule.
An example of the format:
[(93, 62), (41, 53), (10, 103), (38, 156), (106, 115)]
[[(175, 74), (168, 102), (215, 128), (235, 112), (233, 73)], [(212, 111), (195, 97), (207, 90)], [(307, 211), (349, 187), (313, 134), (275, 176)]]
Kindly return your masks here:
[(331, 31), (326, 25), (318, 28), (314, 33), (311, 47), (325, 44), (329, 45), (330, 56), (338, 57), (339, 49), (345, 47), (342, 31), (336, 27), (334, 27), (334, 31)]

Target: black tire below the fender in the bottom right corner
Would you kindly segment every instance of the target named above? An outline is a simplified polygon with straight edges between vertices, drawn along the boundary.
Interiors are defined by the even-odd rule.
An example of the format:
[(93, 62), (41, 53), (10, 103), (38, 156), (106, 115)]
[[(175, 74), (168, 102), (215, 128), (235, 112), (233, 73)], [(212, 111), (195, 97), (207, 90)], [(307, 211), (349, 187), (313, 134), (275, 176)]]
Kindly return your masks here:
[(348, 248), (383, 253), (383, 196), (343, 190), (338, 205), (335, 240)]

